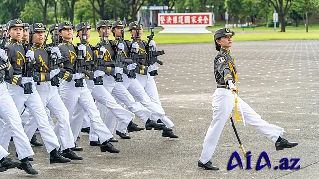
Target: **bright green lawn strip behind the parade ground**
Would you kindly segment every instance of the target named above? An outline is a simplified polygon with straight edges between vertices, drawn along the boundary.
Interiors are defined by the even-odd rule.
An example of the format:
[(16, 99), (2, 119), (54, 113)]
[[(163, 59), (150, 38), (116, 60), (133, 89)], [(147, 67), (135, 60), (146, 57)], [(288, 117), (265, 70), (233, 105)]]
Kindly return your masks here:
[[(207, 29), (212, 31), (211, 34), (161, 34), (161, 27), (155, 29), (154, 40), (157, 44), (174, 44), (174, 43), (204, 43), (213, 42), (214, 32), (222, 28), (222, 26), (208, 27)], [(234, 41), (256, 41), (256, 40), (296, 40), (296, 39), (319, 39), (319, 25), (310, 25), (308, 33), (304, 26), (300, 27), (286, 27), (286, 32), (279, 32), (280, 28), (277, 28), (277, 32), (274, 32), (274, 28), (257, 27), (255, 30), (252, 28), (232, 29), (236, 32), (233, 37)], [(144, 29), (142, 39), (147, 40), (146, 36), (149, 35), (148, 29)], [(75, 37), (76, 35), (74, 35)], [(111, 34), (110, 39), (114, 39)], [(130, 34), (128, 31), (125, 33), (125, 39), (130, 40)], [(49, 40), (48, 40), (49, 41)], [(99, 41), (99, 36), (96, 31), (92, 29), (90, 44), (95, 45)], [(74, 39), (74, 43), (78, 43), (79, 38)]]

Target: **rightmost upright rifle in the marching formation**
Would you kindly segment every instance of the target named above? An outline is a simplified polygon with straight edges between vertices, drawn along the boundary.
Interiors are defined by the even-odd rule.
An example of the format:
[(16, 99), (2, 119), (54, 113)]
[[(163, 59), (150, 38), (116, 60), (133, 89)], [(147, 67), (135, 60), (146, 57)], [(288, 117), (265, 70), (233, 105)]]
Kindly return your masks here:
[[(149, 24), (149, 28), (151, 29), (150, 31), (150, 35), (147, 36), (148, 38), (148, 42), (150, 42), (151, 40), (153, 40), (153, 37), (155, 36), (155, 31), (154, 31), (154, 27), (152, 26), (152, 23)], [(158, 63), (160, 65), (163, 65), (162, 61), (157, 60), (157, 56), (163, 55), (165, 54), (164, 51), (153, 51), (155, 49), (153, 49), (153, 46), (148, 46), (148, 53), (147, 53), (147, 61), (150, 65), (154, 65), (155, 63)], [(152, 49), (152, 50), (151, 50)], [(157, 70), (151, 71), (149, 72), (150, 76), (155, 76), (158, 75)]]

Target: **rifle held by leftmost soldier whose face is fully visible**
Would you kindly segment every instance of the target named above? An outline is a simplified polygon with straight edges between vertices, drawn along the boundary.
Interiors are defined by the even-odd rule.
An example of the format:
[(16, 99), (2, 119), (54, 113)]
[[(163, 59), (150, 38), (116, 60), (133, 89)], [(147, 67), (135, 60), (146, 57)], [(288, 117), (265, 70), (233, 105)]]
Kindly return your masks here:
[[(33, 18), (33, 26), (32, 31), (29, 33), (29, 43), (27, 44), (26, 50), (31, 50), (31, 47), (33, 46), (33, 40), (34, 40), (34, 18)], [(38, 69), (40, 67), (43, 67), (42, 62), (39, 63), (33, 63), (30, 57), (26, 58), (26, 63), (24, 64), (23, 68), (23, 74), (22, 77), (32, 77), (34, 69)], [(32, 83), (26, 83), (23, 88), (24, 94), (31, 94), (32, 92)]]

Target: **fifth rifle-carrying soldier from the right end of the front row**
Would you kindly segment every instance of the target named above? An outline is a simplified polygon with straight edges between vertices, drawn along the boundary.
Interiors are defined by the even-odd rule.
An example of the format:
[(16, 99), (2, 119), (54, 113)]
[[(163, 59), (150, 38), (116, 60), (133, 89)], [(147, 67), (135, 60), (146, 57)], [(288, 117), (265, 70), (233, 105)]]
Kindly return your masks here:
[[(84, 73), (78, 73), (75, 71), (74, 66), (78, 65), (80, 60), (87, 59), (87, 51), (84, 44), (81, 44), (76, 48), (72, 45), (73, 28), (74, 26), (69, 21), (61, 22), (58, 25), (60, 35), (60, 44), (58, 47), (61, 51), (62, 57), (68, 57), (69, 59), (69, 61), (63, 64), (63, 68), (61, 69), (61, 72), (63, 71), (63, 73), (65, 73), (62, 77), (63, 81), (60, 86), (61, 99), (69, 111), (70, 118), (77, 104), (79, 104), (85, 113), (87, 113), (91, 121), (91, 129), (94, 129), (100, 139), (100, 149), (102, 152), (108, 151), (110, 153), (119, 153), (120, 151), (109, 142), (109, 139), (113, 136), (105, 124), (103, 124), (101, 117), (98, 115), (98, 110), (92, 100), (93, 97), (87, 88), (86, 81), (83, 80), (85, 78)], [(78, 53), (76, 49), (77, 51), (82, 51), (84, 59), (77, 59)], [(78, 79), (77, 81), (80, 81), (80, 83), (83, 83), (83, 87), (81, 87), (81, 85), (75, 87), (76, 79)]]

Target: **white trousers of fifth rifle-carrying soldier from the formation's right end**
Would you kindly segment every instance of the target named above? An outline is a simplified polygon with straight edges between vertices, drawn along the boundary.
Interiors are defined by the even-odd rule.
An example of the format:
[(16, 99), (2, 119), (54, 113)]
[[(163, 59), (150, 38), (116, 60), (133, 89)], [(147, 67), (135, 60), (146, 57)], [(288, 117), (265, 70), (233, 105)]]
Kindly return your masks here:
[[(112, 134), (109, 129), (103, 123), (99, 111), (97, 110), (93, 97), (90, 91), (87, 88), (87, 84), (85, 80), (83, 81), (84, 87), (76, 88), (74, 87), (74, 80), (71, 82), (63, 81), (61, 84), (60, 95), (61, 99), (64, 102), (67, 110), (69, 111), (70, 118), (74, 112), (75, 106), (79, 104), (85, 113), (87, 113), (88, 117), (91, 121), (91, 130), (94, 130), (100, 139), (101, 143), (112, 138)], [(80, 118), (82, 124), (83, 116)], [(72, 128), (72, 126), (71, 126)], [(81, 128), (81, 127), (80, 127)], [(72, 130), (72, 132), (74, 132)], [(76, 138), (74, 139), (76, 141)]]

